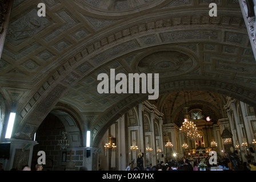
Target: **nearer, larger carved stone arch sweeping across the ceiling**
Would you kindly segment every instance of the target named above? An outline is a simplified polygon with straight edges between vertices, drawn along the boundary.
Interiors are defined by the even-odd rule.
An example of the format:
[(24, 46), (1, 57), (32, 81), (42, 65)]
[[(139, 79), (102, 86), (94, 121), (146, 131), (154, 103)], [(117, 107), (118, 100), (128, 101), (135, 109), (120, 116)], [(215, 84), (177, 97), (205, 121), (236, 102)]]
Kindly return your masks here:
[[(175, 16), (181, 17), (182, 15)], [(87, 76), (89, 73), (93, 72), (93, 70), (97, 69), (99, 65), (106, 64), (108, 61), (111, 61), (121, 56), (120, 54), (124, 55), (126, 53), (139, 50), (141, 49), (140, 46), (145, 48), (168, 43), (186, 43), (186, 35), (191, 35), (191, 39), (189, 39), (191, 43), (209, 42), (218, 44), (220, 43), (219, 38), (222, 37), (222, 32), (218, 32), (218, 26), (221, 26), (222, 28), (224, 28), (224, 30), (227, 31), (236, 30), (238, 32), (241, 32), (239, 33), (240, 36), (246, 35), (245, 32), (241, 31), (240, 24), (234, 26), (227, 22), (221, 22), (221, 19), (219, 19), (219, 22), (212, 22), (212, 18), (209, 18), (207, 22), (203, 22), (203, 16), (199, 16), (195, 19), (195, 17), (193, 17), (192, 15), (186, 17), (187, 19), (189, 19), (187, 23), (182, 23), (182, 18), (183, 17), (180, 18), (179, 22), (174, 23), (174, 18), (170, 18), (166, 14), (164, 14), (161, 19), (153, 18), (151, 23), (140, 24), (138, 22), (138, 24), (134, 24), (134, 22), (131, 22), (129, 24), (130, 27), (125, 26), (125, 29), (123, 30), (119, 30), (120, 26), (113, 27), (113, 30), (106, 31), (106, 33), (101, 35), (101, 38), (98, 38), (96, 42), (95, 40), (91, 39), (86, 44), (86, 46), (83, 47), (82, 50), (81, 48), (79, 50), (73, 50), (73, 56), (69, 55), (68, 57), (63, 59), (65, 60), (63, 61), (63, 64), (60, 64), (60, 66), (55, 69), (53, 74), (49, 75), (46, 78), (46, 81), (42, 83), (42, 86), (38, 89), (37, 92), (34, 93), (33, 98), (31, 98), (27, 105), (25, 105), (23, 109), (21, 109), (21, 113), (17, 119), (17, 121), (20, 122), (21, 126), (19, 126), (19, 128), (17, 129), (17, 133), (23, 130), (23, 127), (25, 127), (23, 125), (23, 121), (33, 121), (36, 123), (35, 125), (38, 125), (37, 120), (42, 120), (42, 118), (45, 117), (45, 115), (40, 112), (40, 110), (42, 110), (41, 105), (47, 105), (46, 108), (49, 109), (43, 109), (43, 113), (49, 113), (51, 107), (54, 107), (54, 105), (59, 101), (61, 96), (63, 96), (63, 94), (70, 88), (70, 86), (74, 85), (75, 82), (81, 80), (81, 78)], [(232, 18), (233, 17), (230, 17), (230, 19)], [(176, 19), (178, 18), (176, 17)], [(191, 28), (179, 26), (184, 24), (190, 26)], [(198, 25), (201, 25), (201, 27), (198, 28)], [(170, 35), (172, 34), (171, 32), (173, 32), (174, 30), (173, 28), (175, 28), (177, 33), (179, 32), (180, 39), (171, 39), (171, 37), (175, 37)], [(203, 30), (203, 28), (205, 28), (205, 30), (209, 30), (210, 28), (210, 30), (213, 31), (205, 31)], [(170, 34), (166, 31), (169, 31)], [(184, 34), (181, 33), (182, 31)], [(117, 34), (114, 32), (121, 32), (122, 36), (117, 37)], [(157, 34), (163, 34), (163, 42), (145, 42), (145, 44), (138, 46), (136, 40), (137, 37), (142, 38), (145, 35), (153, 34), (153, 32)], [(106, 39), (107, 43), (103, 43), (99, 41), (99, 39)], [(241, 38), (239, 38), (239, 40), (240, 39)], [(95, 46), (96, 44), (98, 45), (97, 47)], [(234, 45), (231, 42), (226, 42), (226, 44), (229, 44), (230, 46)], [(107, 50), (104, 48), (106, 45), (109, 46), (109, 49)], [(238, 46), (238, 43), (236, 43), (236, 45)], [(105, 58), (103, 59), (103, 57)], [(62, 85), (57, 84), (57, 81), (62, 82)], [(47, 101), (46, 103), (47, 97), (51, 97), (51, 102)], [(35, 113), (35, 115), (42, 115), (42, 118), (38, 119), (34, 117), (34, 114), (31, 113)], [(23, 138), (25, 136), (22, 137), (21, 134), (19, 134), (19, 137)]]

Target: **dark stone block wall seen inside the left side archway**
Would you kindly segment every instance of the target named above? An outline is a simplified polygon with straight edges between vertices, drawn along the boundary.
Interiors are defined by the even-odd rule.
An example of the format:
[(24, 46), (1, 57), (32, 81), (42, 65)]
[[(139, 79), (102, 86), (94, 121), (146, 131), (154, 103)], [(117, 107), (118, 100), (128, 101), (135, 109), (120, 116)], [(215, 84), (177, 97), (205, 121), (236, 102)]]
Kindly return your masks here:
[[(45, 151), (46, 165), (44, 170), (50, 171), (79, 171), (83, 170), (83, 148), (67, 148), (60, 150), (58, 140), (62, 139), (62, 131), (66, 131), (64, 125), (53, 114), (49, 114), (37, 130), (31, 169), (37, 164), (38, 151)], [(69, 139), (69, 138), (67, 138)], [(71, 152), (71, 156), (70, 156)]]

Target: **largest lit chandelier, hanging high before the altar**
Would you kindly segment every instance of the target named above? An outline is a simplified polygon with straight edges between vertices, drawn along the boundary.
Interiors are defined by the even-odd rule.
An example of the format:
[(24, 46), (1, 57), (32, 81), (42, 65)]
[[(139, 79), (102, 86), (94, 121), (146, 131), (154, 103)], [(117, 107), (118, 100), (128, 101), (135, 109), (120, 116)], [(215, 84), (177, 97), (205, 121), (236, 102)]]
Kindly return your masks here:
[(184, 133), (190, 139), (200, 139), (201, 135), (198, 133), (198, 129), (193, 121), (188, 121), (187, 118), (184, 119), (181, 128), (179, 129), (182, 133)]

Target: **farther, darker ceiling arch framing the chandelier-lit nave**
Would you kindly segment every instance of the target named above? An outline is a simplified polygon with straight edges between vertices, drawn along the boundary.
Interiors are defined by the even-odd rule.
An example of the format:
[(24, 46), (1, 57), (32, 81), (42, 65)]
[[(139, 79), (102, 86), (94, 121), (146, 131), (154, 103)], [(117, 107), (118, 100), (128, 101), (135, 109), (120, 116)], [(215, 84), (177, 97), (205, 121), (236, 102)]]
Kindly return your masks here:
[[(196, 85), (196, 87), (195, 87)], [(181, 81), (170, 81), (166, 82), (165, 84), (161, 84), (159, 86), (162, 88), (160, 94), (166, 94), (170, 92), (181, 92), (181, 91), (190, 91), (190, 90), (195, 90), (195, 91), (205, 91), (205, 92), (215, 92), (219, 94), (223, 94), (225, 96), (233, 97), (236, 98), (242, 102), (245, 102), (249, 105), (255, 106), (256, 104), (254, 103), (255, 101), (251, 100), (251, 98), (248, 97), (248, 94), (245, 94), (249, 92), (252, 97), (255, 97), (255, 93), (249, 91), (249, 90), (240, 90), (237, 86), (233, 84), (229, 84), (227, 82), (218, 82), (215, 80), (181, 80)], [(239, 94), (240, 93), (240, 94)], [(249, 94), (249, 95), (250, 95)], [(106, 122), (104, 125), (104, 128), (108, 128), (111, 126), (113, 121), (118, 119), (121, 114), (125, 114), (127, 111), (127, 107), (131, 108), (136, 106), (139, 102), (143, 102), (147, 100), (147, 95), (146, 94), (138, 94), (137, 96), (134, 96), (133, 94), (127, 96), (125, 98), (125, 107), (123, 107), (123, 102), (122, 104), (120, 103), (117, 109), (117, 106), (115, 106), (115, 109), (110, 110), (110, 113), (118, 113), (118, 115), (111, 115), (111, 117), (105, 121)], [(99, 120), (100, 121), (100, 120)], [(93, 127), (93, 126), (92, 126)], [(103, 129), (103, 127), (102, 127)], [(93, 145), (97, 146), (98, 145), (98, 137), (101, 135), (102, 131), (101, 127), (97, 128), (93, 132)], [(100, 132), (99, 132), (100, 131)], [(97, 136), (97, 137), (96, 137)]]

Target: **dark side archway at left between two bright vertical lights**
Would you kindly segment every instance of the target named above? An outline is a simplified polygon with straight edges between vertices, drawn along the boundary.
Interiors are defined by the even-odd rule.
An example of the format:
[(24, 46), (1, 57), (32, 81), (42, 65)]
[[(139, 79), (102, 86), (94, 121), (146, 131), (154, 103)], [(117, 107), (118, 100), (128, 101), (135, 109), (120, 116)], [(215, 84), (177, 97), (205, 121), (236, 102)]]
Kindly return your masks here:
[[(68, 145), (62, 148), (59, 141), (66, 133)], [(53, 110), (43, 120), (35, 133), (35, 140), (38, 142), (34, 146), (31, 167), (34, 170), (37, 164), (38, 151), (46, 154), (46, 164), (44, 170), (64, 171), (69, 167), (70, 162), (75, 162), (74, 169), (83, 168), (83, 152), (78, 150), (82, 146), (82, 135), (78, 122), (74, 117), (63, 110)], [(80, 152), (79, 152), (80, 151)]]

